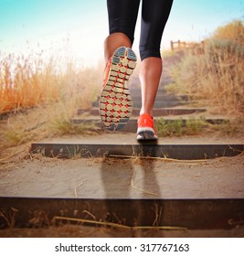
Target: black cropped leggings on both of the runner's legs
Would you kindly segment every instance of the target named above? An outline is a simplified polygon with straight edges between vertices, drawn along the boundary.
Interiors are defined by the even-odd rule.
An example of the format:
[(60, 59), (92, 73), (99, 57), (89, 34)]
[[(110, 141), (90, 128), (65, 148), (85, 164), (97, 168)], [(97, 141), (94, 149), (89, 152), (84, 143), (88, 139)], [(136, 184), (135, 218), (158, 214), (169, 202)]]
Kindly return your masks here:
[[(107, 0), (110, 34), (122, 32), (133, 44), (141, 0)], [(160, 43), (173, 0), (143, 0), (140, 37), (141, 59), (161, 58)]]

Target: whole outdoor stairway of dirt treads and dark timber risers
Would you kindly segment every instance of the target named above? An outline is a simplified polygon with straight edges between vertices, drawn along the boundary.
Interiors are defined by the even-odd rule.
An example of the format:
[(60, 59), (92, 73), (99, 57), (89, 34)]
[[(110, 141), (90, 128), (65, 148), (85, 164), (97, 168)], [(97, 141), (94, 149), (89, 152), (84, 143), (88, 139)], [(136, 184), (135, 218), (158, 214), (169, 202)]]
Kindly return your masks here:
[[(112, 222), (126, 227), (172, 229), (235, 229), (237, 225), (243, 225), (243, 174), (231, 179), (229, 171), (237, 171), (235, 166), (231, 165), (229, 169), (221, 165), (220, 168), (215, 162), (217, 157), (237, 157), (244, 150), (243, 142), (225, 138), (206, 138), (204, 142), (197, 142), (190, 137), (137, 142), (134, 133), (141, 92), (135, 84), (130, 88), (133, 117), (121, 132), (104, 131), (103, 135), (58, 138), (31, 145), (33, 154), (57, 157), (57, 161), (59, 158), (79, 159), (80, 167), (74, 170), (69, 160), (63, 164), (58, 162), (60, 171), (68, 176), (58, 195), (50, 187), (43, 196), (34, 182), (29, 196), (19, 190), (11, 197), (0, 197), (1, 212), (11, 215), (13, 209), (18, 210), (16, 227), (42, 227), (54, 217), (59, 217), (58, 221), (62, 223), (67, 222), (66, 218), (73, 219), (70, 221), (74, 223), (75, 219), (83, 219), (85, 225), (86, 220), (90, 223), (89, 220), (95, 218), (103, 224), (107, 222), (108, 226)], [(206, 108), (186, 105), (189, 106), (186, 95), (167, 95), (164, 84), (161, 84), (154, 105), (154, 119), (164, 117), (166, 122), (173, 122), (181, 117), (186, 122), (192, 116), (197, 118), (206, 113)], [(206, 117), (206, 121), (222, 123), (225, 119)], [(101, 127), (98, 103), (94, 102), (89, 112), (78, 110), (72, 122)], [(93, 163), (93, 168), (87, 165), (87, 161), (97, 158), (103, 160), (98, 160), (99, 164)], [(116, 164), (108, 164), (110, 159), (117, 159)], [(136, 159), (141, 159), (141, 164), (133, 164)], [(51, 170), (51, 167), (47, 168)], [(90, 181), (86, 184), (86, 192), (80, 188), (76, 197), (65, 192), (73, 172)], [(133, 186), (135, 181), (141, 187)], [(225, 193), (222, 187), (227, 187)], [(30, 219), (35, 218), (38, 220), (36, 226), (30, 223)], [(5, 219), (0, 218), (0, 225), (5, 226)]]

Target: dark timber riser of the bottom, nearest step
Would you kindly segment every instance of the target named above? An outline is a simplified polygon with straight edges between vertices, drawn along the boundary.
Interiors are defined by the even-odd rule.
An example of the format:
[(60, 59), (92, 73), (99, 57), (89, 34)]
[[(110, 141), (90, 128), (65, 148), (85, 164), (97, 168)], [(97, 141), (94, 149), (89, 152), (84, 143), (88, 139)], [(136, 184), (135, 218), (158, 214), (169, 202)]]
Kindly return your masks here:
[[(244, 199), (0, 197), (0, 206), (6, 216), (15, 215), (15, 227), (18, 228), (42, 228), (50, 223), (78, 224), (80, 222), (75, 219), (83, 219), (83, 225), (87, 224), (86, 220), (97, 220), (127, 227), (235, 229), (235, 221), (243, 217)], [(6, 219), (0, 219), (0, 226), (8, 227)]]

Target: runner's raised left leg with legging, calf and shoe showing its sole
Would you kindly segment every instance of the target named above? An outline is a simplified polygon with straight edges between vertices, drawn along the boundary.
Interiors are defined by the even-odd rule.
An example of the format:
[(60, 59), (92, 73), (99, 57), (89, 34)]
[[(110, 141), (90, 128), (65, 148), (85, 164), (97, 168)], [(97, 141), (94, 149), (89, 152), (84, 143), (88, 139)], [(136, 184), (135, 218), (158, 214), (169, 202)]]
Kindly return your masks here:
[(104, 82), (100, 115), (110, 131), (122, 129), (132, 115), (132, 97), (126, 81), (135, 68), (133, 33), (140, 0), (107, 0), (110, 36), (104, 42)]

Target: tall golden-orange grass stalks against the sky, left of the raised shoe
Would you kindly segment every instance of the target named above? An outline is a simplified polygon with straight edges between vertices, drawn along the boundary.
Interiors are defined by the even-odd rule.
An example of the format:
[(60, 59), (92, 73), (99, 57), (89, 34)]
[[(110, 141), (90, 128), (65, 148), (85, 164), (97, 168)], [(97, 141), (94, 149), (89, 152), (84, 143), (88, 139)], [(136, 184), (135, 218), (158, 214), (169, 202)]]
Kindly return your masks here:
[(42, 53), (0, 54), (0, 113), (60, 101), (89, 108), (101, 88), (102, 69), (77, 69), (74, 60), (45, 60)]

